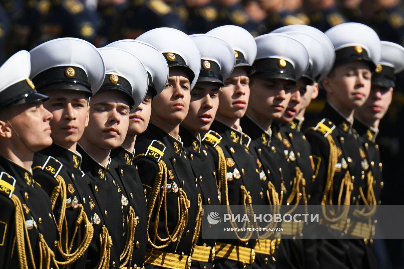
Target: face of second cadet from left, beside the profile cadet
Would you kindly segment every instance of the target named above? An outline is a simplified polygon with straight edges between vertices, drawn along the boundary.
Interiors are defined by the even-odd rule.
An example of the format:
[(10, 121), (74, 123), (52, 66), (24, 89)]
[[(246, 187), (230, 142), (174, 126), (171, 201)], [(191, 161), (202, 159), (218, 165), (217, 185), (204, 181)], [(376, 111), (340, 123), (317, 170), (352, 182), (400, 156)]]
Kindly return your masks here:
[(53, 114), (50, 121), (53, 143), (70, 148), (88, 125), (88, 97), (76, 90), (50, 90), (44, 94), (49, 96), (44, 107)]

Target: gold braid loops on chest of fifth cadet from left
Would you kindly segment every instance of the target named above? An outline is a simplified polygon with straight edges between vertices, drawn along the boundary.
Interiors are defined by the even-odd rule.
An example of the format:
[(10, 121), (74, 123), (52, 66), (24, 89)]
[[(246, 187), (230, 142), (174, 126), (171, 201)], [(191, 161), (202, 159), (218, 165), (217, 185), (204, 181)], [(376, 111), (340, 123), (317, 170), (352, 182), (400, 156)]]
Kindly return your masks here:
[[(170, 245), (173, 242), (178, 242), (181, 240), (182, 233), (185, 229), (185, 226), (188, 223), (188, 208), (190, 206), (189, 200), (187, 199), (187, 195), (185, 191), (181, 188), (178, 190), (178, 196), (177, 196), (177, 225), (174, 228), (174, 231), (170, 233), (168, 231), (168, 225), (167, 225), (167, 166), (164, 163), (164, 161), (160, 160), (158, 162), (158, 168), (159, 172), (156, 174), (156, 178), (154, 180), (154, 185), (153, 188), (151, 189), (151, 194), (149, 201), (147, 202), (147, 241), (151, 245), (152, 248), (165, 248), (168, 245)], [(153, 214), (153, 211), (156, 206), (156, 202), (158, 201), (158, 206), (156, 208), (156, 219), (154, 223), (154, 238), (153, 241), (150, 238), (149, 235), (149, 227), (150, 227), (150, 221), (151, 221), (151, 216)], [(158, 224), (160, 220), (160, 211), (162, 208), (162, 205), (164, 203), (164, 224), (165, 224), (165, 230), (166, 230), (166, 238), (161, 238), (160, 235), (158, 235)], [(161, 242), (166, 242), (161, 245), (156, 244), (156, 240), (159, 240)]]

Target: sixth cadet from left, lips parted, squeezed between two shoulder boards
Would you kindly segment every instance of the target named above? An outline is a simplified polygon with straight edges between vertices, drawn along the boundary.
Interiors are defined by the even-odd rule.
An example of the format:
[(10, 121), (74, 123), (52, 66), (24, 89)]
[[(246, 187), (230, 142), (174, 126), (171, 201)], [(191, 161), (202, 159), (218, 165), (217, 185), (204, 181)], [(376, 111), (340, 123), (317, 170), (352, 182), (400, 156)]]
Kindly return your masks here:
[[(187, 117), (181, 122), (179, 134), (183, 148), (191, 160), (195, 185), (203, 205), (220, 205), (217, 166), (212, 154), (203, 145), (201, 135), (208, 132), (219, 107), (219, 89), (236, 64), (233, 48), (224, 40), (207, 34), (191, 36), (201, 54), (198, 81), (191, 92)], [(200, 134), (201, 133), (201, 134)], [(206, 229), (210, 229), (207, 227)], [(199, 238), (192, 252), (191, 268), (213, 268), (215, 243), (219, 229), (213, 227), (213, 239)]]

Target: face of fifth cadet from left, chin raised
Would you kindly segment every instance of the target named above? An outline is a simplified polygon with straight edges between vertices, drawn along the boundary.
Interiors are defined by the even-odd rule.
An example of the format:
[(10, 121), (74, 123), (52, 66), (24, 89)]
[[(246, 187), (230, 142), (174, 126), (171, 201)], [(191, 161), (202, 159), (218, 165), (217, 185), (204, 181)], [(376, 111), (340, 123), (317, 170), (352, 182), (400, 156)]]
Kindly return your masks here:
[(190, 87), (186, 72), (179, 67), (170, 67), (166, 87), (151, 103), (151, 118), (154, 122), (180, 124), (188, 113)]

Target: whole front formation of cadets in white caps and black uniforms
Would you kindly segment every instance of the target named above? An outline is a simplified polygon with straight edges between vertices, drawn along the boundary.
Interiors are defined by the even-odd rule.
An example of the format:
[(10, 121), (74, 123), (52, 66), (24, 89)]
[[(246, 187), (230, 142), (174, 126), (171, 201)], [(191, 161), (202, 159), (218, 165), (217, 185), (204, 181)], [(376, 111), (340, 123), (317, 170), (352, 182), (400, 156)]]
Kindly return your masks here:
[(0, 268), (375, 268), (373, 211), (322, 212), (357, 239), (206, 239), (202, 206), (381, 204), (375, 138), (403, 69), (360, 23), (21, 50), (0, 67)]

